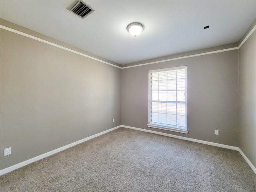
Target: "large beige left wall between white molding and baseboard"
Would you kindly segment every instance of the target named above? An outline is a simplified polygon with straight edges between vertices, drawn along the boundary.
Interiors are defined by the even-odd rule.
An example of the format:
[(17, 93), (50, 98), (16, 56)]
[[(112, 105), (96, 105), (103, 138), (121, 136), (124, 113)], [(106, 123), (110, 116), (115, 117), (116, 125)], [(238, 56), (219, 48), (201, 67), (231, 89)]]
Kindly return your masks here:
[(1, 170), (121, 124), (120, 68), (0, 33)]

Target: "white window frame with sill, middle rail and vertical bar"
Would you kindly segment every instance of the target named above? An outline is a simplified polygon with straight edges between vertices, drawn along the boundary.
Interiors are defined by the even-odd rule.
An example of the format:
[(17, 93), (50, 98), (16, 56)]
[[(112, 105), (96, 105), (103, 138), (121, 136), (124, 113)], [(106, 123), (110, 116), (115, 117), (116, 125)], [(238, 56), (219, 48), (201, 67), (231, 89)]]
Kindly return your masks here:
[[(155, 73), (157, 74), (158, 72), (167, 72), (167, 71), (174, 71), (174, 70), (180, 70), (180, 69), (185, 69), (185, 101), (168, 101), (168, 99), (166, 99), (166, 101), (160, 101), (159, 98), (158, 100), (152, 100), (152, 74)], [(151, 128), (158, 128), (158, 129), (163, 129), (163, 130), (170, 130), (170, 131), (174, 131), (174, 132), (180, 132), (180, 133), (185, 133), (187, 134), (187, 66), (179, 66), (179, 67), (172, 67), (172, 68), (165, 68), (165, 69), (158, 69), (158, 70), (150, 70), (148, 71), (148, 127)], [(159, 85), (159, 79), (157, 80), (158, 85)], [(167, 86), (168, 86), (168, 78), (166, 78), (166, 98), (167, 98)], [(176, 86), (177, 86), (177, 78), (176, 78)], [(177, 88), (176, 88), (177, 91)], [(159, 92), (159, 87), (158, 87), (158, 92)], [(159, 93), (158, 93), (159, 94)], [(177, 125), (173, 125), (173, 124), (167, 124), (168, 122), (168, 112), (167, 112), (167, 108), (166, 108), (166, 124), (165, 123), (159, 123), (158, 122), (153, 122), (152, 120), (152, 102), (154, 103), (167, 103), (166, 106), (168, 105), (168, 103), (176, 103), (176, 104), (185, 104), (185, 111), (186, 111), (186, 126), (177, 126)], [(177, 105), (176, 105), (177, 106)], [(160, 114), (160, 113), (158, 113)], [(161, 113), (162, 114), (162, 113)], [(177, 107), (176, 107), (176, 120), (177, 120)]]

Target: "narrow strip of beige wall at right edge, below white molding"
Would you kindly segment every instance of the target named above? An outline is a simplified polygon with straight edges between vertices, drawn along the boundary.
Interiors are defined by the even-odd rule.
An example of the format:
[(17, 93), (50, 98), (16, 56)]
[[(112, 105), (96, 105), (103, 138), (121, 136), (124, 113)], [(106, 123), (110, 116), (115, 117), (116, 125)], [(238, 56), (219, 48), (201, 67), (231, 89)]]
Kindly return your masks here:
[(238, 140), (239, 148), (256, 167), (256, 31), (239, 49)]

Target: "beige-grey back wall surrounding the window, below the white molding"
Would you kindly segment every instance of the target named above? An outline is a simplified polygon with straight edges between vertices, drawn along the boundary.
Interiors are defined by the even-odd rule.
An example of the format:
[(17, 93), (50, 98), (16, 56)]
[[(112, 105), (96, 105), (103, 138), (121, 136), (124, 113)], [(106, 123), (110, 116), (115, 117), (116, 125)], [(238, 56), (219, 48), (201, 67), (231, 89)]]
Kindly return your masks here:
[[(188, 134), (148, 128), (148, 71), (184, 65)], [(238, 50), (123, 69), (122, 125), (238, 146)]]

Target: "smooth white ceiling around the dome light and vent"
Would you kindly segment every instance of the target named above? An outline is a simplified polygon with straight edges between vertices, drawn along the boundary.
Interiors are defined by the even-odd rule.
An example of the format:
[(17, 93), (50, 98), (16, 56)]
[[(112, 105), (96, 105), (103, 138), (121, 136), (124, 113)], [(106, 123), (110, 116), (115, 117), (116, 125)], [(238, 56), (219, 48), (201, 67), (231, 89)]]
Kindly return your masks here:
[[(256, 0), (84, 0), (95, 10), (84, 19), (73, 2), (1, 0), (0, 17), (119, 64), (235, 43), (256, 20)], [(131, 22), (145, 26), (137, 37)]]

